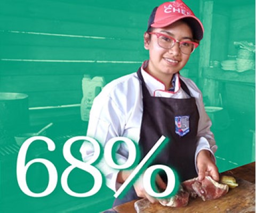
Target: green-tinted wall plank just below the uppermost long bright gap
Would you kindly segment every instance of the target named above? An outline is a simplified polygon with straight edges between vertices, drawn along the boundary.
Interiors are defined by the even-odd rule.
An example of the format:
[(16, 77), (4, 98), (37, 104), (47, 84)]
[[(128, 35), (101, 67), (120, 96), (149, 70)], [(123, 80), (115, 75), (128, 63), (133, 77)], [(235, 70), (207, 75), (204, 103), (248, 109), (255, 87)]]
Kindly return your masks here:
[[(59, 48), (84, 48), (84, 49), (101, 49), (101, 51), (109, 51), (111, 49), (143, 50), (143, 36), (137, 40), (126, 40), (125, 38), (106, 38), (94, 39), (87, 37), (72, 37), (71, 35), (45, 35), (43, 33), (23, 31), (4, 31), (0, 32), (1, 43), (6, 46), (37, 46), (37, 47), (59, 47)], [(121, 48), (122, 47), (122, 48)]]

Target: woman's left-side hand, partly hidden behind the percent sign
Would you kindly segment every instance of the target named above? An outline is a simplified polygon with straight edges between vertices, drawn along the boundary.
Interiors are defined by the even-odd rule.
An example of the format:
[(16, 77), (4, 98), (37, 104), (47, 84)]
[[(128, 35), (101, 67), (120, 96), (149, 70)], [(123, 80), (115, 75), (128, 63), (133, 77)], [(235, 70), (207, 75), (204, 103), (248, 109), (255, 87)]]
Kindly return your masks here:
[[(117, 181), (119, 183), (123, 183), (127, 177), (132, 173), (132, 171), (120, 171), (117, 175)], [(155, 180), (157, 186), (163, 190), (166, 189), (166, 184), (163, 182), (162, 178), (157, 175)], [(140, 198), (147, 198), (151, 203), (158, 202), (158, 200), (154, 197), (151, 197), (144, 188), (143, 185), (143, 174), (138, 178), (138, 180), (133, 184), (134, 190), (138, 197)]]

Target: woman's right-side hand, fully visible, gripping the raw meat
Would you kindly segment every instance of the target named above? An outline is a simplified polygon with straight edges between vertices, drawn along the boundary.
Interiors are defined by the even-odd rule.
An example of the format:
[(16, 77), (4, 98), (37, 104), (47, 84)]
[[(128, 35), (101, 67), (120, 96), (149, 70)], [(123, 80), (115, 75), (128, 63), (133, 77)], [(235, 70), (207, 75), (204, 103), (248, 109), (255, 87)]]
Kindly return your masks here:
[(218, 168), (215, 165), (211, 152), (208, 150), (199, 151), (196, 158), (196, 165), (198, 168), (198, 179), (199, 181), (204, 180), (205, 176), (211, 176), (214, 181), (219, 181)]

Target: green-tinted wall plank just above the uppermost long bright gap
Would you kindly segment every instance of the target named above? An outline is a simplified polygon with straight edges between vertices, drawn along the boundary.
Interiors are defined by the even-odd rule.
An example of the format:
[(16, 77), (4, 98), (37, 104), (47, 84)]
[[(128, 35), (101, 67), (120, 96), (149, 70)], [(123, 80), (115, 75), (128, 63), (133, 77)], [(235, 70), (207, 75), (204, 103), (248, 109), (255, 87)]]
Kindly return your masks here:
[[(107, 39), (138, 39), (147, 28), (147, 22), (141, 27), (131, 27), (127, 25), (114, 26), (104, 23), (84, 23), (72, 22), (69, 20), (54, 20), (43, 18), (19, 17), (1, 15), (1, 32), (20, 31), (59, 34), (62, 36), (84, 36), (84, 37), (103, 37)], [(49, 35), (50, 36), (50, 35)], [(71, 38), (71, 37), (70, 37)], [(99, 39), (98, 39), (99, 40)]]

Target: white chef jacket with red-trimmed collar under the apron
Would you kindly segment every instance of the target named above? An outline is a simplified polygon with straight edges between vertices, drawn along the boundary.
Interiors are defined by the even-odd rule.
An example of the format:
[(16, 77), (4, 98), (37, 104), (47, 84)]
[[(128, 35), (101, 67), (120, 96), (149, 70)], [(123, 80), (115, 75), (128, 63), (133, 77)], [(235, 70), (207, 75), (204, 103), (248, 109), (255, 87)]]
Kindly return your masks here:
[[(192, 80), (181, 76), (179, 73), (175, 74), (178, 78), (175, 78), (174, 91), (166, 91), (162, 82), (155, 79), (143, 69), (147, 63), (148, 61), (142, 64), (141, 74), (151, 96), (189, 98), (187, 93), (180, 87), (180, 79), (185, 82), (190, 95), (196, 100), (199, 112), (195, 165), (196, 156), (203, 149), (209, 150), (214, 158), (217, 146), (214, 135), (210, 131), (212, 123), (205, 112), (201, 91)], [(99, 141), (103, 147), (109, 139), (119, 136), (129, 138), (138, 143), (142, 112), (142, 89), (137, 73), (122, 76), (108, 83), (100, 94), (95, 97), (90, 112), (87, 136)], [(90, 159), (93, 155), (91, 143), (84, 142), (80, 152), (84, 161)], [(125, 163), (128, 154), (129, 150), (127, 150), (125, 143), (122, 143), (116, 154), (116, 158), (120, 164)], [(116, 183), (119, 171), (109, 167), (103, 158), (97, 167), (105, 175), (107, 186), (113, 191), (116, 191), (121, 185)]]

